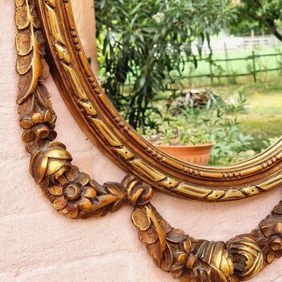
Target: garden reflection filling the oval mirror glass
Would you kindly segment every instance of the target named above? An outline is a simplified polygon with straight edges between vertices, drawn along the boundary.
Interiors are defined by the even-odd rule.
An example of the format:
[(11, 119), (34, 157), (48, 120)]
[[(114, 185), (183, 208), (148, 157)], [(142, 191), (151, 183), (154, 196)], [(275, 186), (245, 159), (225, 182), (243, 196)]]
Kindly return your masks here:
[(267, 7), (245, 2), (72, 0), (116, 109), (164, 152), (215, 166), (255, 157), (282, 135), (282, 37), (250, 17)]

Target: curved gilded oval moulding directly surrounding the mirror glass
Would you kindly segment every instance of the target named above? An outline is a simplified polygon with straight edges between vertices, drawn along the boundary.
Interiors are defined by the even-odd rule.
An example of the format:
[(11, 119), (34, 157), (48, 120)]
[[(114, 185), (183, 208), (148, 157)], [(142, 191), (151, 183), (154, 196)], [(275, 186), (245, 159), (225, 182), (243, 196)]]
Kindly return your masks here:
[(144, 140), (109, 102), (82, 49), (68, 0), (36, 0), (51, 73), (86, 135), (127, 173), (154, 188), (193, 200), (241, 200), (282, 183), (282, 139), (240, 164), (196, 166)]

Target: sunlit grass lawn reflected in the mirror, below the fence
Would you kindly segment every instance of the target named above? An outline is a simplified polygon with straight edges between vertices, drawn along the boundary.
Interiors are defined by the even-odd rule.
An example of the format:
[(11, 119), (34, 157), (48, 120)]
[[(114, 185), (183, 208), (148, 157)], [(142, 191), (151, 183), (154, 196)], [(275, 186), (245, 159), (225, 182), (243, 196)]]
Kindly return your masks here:
[(265, 147), (264, 140), (282, 135), (282, 80), (279, 77), (269, 82), (249, 82), (245, 85), (211, 88), (226, 98), (239, 90), (245, 92), (249, 106), (247, 113), (241, 114), (238, 121), (243, 133), (255, 137), (251, 147), (256, 152)]

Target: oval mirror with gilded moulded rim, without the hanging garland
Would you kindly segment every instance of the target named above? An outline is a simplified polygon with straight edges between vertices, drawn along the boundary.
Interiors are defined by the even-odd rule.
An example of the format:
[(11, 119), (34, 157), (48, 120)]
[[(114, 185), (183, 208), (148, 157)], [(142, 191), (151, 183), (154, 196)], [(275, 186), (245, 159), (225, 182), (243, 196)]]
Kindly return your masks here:
[[(257, 42), (257, 31), (228, 35), (238, 33), (231, 29), (237, 1), (72, 1), (75, 17), (70, 1), (38, 3), (66, 104), (126, 172), (209, 201), (245, 199), (282, 183), (273, 118), (278, 44), (271, 35)], [(267, 38), (277, 46), (267, 47)], [(192, 151), (184, 158), (167, 151), (175, 147)], [(195, 147), (212, 151), (195, 157)]]

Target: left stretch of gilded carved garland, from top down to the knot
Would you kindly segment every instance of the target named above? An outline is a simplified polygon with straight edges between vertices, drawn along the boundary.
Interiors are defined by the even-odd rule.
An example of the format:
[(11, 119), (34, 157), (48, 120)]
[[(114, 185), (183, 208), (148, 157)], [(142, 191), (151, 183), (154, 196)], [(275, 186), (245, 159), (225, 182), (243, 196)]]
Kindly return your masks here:
[[(51, 8), (56, 6), (55, 1), (47, 2)], [(86, 218), (114, 212), (126, 200), (123, 185), (105, 183), (102, 186), (90, 180), (71, 164), (72, 157), (65, 145), (53, 141), (56, 113), (51, 94), (42, 84), (49, 77), (49, 66), (44, 59), (44, 39), (35, 1), (15, 0), (15, 4), (16, 69), (20, 75), (17, 103), (20, 126), (24, 129), (22, 139), (25, 149), (32, 154), (30, 173), (54, 207), (68, 217)], [(62, 39), (61, 32), (59, 35)], [(67, 54), (63, 56), (66, 58)]]

